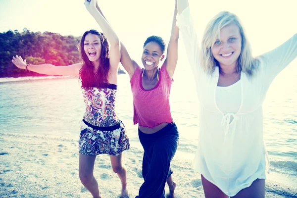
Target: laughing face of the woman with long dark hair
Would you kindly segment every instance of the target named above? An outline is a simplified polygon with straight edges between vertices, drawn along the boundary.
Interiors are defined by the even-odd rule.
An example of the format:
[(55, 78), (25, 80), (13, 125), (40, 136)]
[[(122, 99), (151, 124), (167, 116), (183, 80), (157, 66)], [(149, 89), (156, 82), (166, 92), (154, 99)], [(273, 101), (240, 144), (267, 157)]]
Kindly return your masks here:
[(87, 34), (84, 40), (84, 51), (92, 62), (99, 61), (101, 54), (101, 42), (98, 35)]

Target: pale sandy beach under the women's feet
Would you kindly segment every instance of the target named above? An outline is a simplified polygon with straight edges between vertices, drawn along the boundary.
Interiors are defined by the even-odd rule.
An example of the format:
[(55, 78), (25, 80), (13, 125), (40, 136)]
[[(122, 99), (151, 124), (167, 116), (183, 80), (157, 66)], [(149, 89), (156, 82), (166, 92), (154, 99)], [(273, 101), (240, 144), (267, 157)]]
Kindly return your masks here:
[[(92, 198), (78, 176), (78, 137), (28, 135), (0, 132), (1, 198)], [(143, 179), (143, 150), (133, 147), (124, 152), (130, 198), (138, 195)], [(177, 151), (177, 155), (178, 155)], [(191, 168), (191, 160), (175, 157), (172, 161), (176, 198), (204, 198), (200, 176)], [(104, 198), (119, 198), (120, 180), (113, 173), (108, 155), (99, 155), (95, 177)], [(169, 192), (165, 188), (166, 194)], [(267, 198), (294, 198), (297, 189), (267, 181)]]

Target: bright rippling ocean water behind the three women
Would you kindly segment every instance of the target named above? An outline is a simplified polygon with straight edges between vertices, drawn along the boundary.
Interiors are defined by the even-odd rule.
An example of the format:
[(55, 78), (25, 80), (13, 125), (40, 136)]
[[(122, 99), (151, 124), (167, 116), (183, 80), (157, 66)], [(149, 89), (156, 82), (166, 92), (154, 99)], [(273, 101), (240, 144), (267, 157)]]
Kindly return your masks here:
[[(158, 101), (155, 101), (156, 103)], [(188, 67), (176, 70), (171, 90), (172, 116), (179, 128), (176, 157), (192, 160), (198, 140), (198, 100)], [(131, 145), (139, 147), (133, 125), (132, 93), (127, 74), (118, 77), (117, 114)], [(77, 77), (0, 79), (0, 132), (71, 135), (78, 139), (84, 114)], [(263, 104), (264, 142), (270, 176), (297, 189), (297, 67), (289, 66), (272, 83)]]

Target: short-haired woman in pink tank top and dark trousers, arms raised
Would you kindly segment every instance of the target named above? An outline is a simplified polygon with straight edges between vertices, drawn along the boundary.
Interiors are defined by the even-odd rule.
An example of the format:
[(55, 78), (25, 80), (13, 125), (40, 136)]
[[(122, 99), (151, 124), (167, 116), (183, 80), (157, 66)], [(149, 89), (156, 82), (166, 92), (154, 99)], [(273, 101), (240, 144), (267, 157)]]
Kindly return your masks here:
[(136, 198), (164, 198), (166, 181), (169, 197), (174, 198), (176, 184), (172, 181), (170, 162), (178, 146), (179, 134), (171, 117), (169, 95), (177, 64), (179, 38), (176, 3), (175, 0), (167, 57), (161, 67), (165, 57), (162, 38), (150, 36), (144, 43), (143, 67), (130, 58), (121, 43), (121, 63), (130, 76), (133, 94), (133, 120), (134, 124), (139, 124), (139, 139), (145, 151), (142, 165), (144, 183)]

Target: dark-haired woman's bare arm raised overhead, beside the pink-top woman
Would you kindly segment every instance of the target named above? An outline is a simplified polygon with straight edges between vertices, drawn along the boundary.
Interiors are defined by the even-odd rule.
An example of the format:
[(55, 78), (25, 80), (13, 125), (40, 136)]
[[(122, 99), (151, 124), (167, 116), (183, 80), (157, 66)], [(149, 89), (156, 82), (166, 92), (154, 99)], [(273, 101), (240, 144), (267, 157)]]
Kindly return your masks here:
[(110, 43), (110, 49), (109, 49), (110, 69), (112, 70), (112, 72), (117, 73), (119, 62), (121, 59), (119, 38), (117, 37), (116, 33), (114, 32), (110, 24), (106, 21), (104, 16), (97, 9), (97, 7), (99, 7), (97, 4), (97, 0), (85, 0), (85, 6), (87, 10), (90, 12), (90, 14), (95, 18), (101, 30), (103, 31), (104, 36)]

